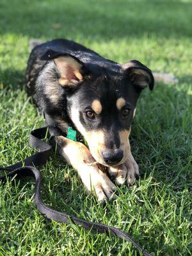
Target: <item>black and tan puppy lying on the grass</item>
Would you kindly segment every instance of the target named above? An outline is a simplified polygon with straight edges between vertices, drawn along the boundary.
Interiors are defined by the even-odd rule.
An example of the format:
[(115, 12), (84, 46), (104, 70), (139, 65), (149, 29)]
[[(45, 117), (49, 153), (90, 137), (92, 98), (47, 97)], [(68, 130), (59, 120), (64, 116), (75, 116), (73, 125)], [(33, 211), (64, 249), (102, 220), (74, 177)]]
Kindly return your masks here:
[(107, 166), (116, 184), (132, 184), (139, 168), (129, 134), (141, 91), (154, 87), (150, 69), (136, 60), (120, 65), (83, 45), (58, 39), (33, 49), (26, 86), (42, 113), (63, 131), (74, 127), (87, 141), (88, 148), (64, 136), (55, 139), (60, 154), (99, 201), (116, 189), (99, 164)]

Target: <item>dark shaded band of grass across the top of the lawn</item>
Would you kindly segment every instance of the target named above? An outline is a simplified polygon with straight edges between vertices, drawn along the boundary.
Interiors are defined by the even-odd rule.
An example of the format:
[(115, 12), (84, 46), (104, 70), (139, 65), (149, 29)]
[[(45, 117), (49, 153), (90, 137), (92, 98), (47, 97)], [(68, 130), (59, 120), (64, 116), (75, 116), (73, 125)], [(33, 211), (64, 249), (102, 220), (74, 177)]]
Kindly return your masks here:
[[(192, 3), (181, 1), (1, 1), (0, 33), (102, 40), (192, 35)], [(191, 20), (192, 22), (192, 20)]]

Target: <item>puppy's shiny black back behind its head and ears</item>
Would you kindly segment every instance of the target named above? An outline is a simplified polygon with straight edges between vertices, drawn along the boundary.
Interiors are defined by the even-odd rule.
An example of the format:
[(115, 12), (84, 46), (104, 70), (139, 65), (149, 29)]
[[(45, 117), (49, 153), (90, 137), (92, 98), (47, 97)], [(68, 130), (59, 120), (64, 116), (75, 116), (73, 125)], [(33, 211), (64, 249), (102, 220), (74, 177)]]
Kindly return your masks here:
[(47, 59), (49, 60), (49, 54), (52, 54), (52, 52), (63, 52), (63, 55), (74, 56), (74, 58), (81, 60), (95, 74), (100, 74), (101, 69), (109, 70), (109, 72), (115, 72), (119, 69), (119, 65), (115, 61), (107, 60), (97, 54), (97, 52), (67, 39), (56, 39), (44, 44), (40, 44), (39, 40), (37, 42), (34, 40), (33, 42), (31, 41), (31, 46), (35, 47), (31, 51), (26, 68), (28, 95), (33, 95), (36, 78)]

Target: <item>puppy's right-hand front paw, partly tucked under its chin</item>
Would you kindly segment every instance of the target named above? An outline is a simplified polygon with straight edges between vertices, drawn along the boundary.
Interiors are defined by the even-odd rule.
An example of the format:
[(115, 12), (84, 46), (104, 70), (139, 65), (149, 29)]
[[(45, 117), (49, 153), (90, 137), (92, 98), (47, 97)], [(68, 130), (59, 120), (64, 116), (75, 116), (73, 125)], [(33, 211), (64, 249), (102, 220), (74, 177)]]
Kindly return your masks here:
[(115, 178), (117, 185), (122, 185), (127, 181), (127, 185), (130, 186), (140, 175), (139, 166), (132, 157), (132, 154), (130, 154), (125, 163), (109, 167), (108, 172), (111, 177)]

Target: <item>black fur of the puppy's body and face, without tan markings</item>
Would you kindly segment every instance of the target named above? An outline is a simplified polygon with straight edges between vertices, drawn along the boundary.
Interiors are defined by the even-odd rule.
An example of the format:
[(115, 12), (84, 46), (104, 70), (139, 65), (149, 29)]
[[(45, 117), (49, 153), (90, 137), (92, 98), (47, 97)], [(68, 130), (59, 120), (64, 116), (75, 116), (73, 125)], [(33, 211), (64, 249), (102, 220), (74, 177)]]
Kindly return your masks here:
[[(54, 58), (58, 56), (70, 56), (83, 65), (83, 81), (77, 86), (63, 87), (58, 82), (60, 75), (54, 63)], [(102, 58), (83, 45), (65, 39), (52, 40), (37, 45), (31, 52), (26, 70), (26, 88), (38, 109), (57, 120), (62, 129), (66, 129), (68, 125), (76, 127), (70, 118), (70, 109), (73, 106), (78, 109), (79, 119), (86, 131), (108, 131), (105, 137), (106, 146), (118, 148), (118, 131), (130, 129), (136, 102), (141, 90), (145, 88), (137, 84), (138, 77), (148, 79), (151, 90), (154, 86), (150, 69), (139, 61), (132, 63), (134, 67), (126, 68), (125, 65), (123, 68), (122, 65)], [(132, 79), (133, 70), (137, 68), (144, 70), (147, 77), (136, 75), (135, 79)], [(51, 91), (52, 88), (54, 92)], [(52, 93), (47, 94), (47, 90)], [(54, 93), (57, 95), (55, 100), (49, 97), (49, 94)], [(126, 107), (130, 109), (127, 118), (122, 118), (116, 108), (116, 100), (120, 97), (125, 99)], [(95, 120), (88, 120), (84, 113), (91, 108), (94, 99), (100, 100), (102, 113)]]

